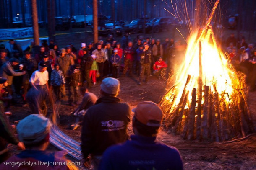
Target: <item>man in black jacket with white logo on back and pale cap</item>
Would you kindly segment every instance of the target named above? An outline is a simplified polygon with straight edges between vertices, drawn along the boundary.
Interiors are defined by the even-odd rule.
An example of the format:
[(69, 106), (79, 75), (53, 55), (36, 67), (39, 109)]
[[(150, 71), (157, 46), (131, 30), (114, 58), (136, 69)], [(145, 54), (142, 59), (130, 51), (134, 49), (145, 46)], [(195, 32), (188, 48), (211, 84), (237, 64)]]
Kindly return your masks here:
[(111, 145), (125, 142), (128, 139), (127, 126), (130, 122), (131, 108), (121, 103), (116, 96), (120, 82), (115, 78), (102, 81), (101, 95), (94, 106), (84, 116), (81, 133), (81, 149), (88, 166), (91, 154), (94, 169), (97, 169), (102, 153)]

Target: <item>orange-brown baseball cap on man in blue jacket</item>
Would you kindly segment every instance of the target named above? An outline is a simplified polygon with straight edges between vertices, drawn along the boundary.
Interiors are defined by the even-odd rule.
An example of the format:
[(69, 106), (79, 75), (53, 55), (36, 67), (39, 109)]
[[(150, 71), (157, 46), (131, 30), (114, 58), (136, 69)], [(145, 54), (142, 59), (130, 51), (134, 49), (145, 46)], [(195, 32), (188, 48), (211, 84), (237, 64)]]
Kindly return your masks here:
[(159, 105), (152, 101), (138, 103), (137, 107), (132, 110), (135, 118), (147, 126), (160, 127), (163, 112)]

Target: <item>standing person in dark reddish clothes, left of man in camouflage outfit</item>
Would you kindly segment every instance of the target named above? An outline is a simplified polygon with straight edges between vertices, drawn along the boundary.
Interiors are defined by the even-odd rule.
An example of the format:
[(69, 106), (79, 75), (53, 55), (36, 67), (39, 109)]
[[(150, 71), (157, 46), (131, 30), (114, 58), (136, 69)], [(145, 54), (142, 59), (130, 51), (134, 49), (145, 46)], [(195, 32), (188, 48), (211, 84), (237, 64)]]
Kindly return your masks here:
[(123, 68), (123, 76), (125, 76), (127, 70), (129, 69), (129, 77), (131, 77), (131, 71), (133, 66), (133, 57), (135, 54), (135, 50), (133, 49), (133, 43), (130, 41), (128, 46), (124, 49), (125, 61)]

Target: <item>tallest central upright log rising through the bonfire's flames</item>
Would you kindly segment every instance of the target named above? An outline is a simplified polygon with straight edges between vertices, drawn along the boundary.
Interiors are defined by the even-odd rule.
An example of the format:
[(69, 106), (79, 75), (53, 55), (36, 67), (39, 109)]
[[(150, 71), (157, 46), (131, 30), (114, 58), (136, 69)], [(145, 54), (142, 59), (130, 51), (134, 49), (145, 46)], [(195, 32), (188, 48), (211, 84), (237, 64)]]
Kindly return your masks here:
[(201, 41), (199, 41), (199, 78), (198, 78), (198, 103), (197, 103), (197, 117), (196, 117), (196, 139), (201, 137), (201, 105), (202, 105), (202, 86), (203, 86), (203, 70), (202, 70), (202, 46)]

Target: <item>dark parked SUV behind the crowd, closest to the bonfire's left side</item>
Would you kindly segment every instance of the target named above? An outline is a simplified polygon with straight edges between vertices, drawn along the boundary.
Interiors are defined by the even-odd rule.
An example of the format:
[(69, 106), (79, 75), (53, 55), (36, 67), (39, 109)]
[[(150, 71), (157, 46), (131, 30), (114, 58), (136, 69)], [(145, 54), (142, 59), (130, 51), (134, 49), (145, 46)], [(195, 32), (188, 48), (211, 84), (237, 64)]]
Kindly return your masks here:
[(146, 32), (153, 31), (154, 33), (158, 33), (163, 30), (172, 31), (175, 25), (177, 23), (170, 17), (153, 18), (149, 23), (146, 23)]

